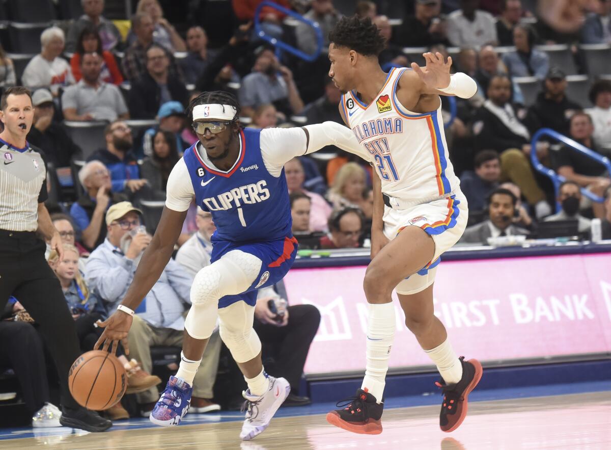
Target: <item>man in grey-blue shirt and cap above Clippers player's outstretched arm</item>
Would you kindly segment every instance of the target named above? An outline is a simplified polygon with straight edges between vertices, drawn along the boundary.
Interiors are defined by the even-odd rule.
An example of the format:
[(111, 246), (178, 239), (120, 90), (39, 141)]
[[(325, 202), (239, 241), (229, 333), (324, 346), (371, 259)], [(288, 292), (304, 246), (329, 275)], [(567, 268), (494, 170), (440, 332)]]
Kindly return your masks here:
[(271, 48), (260, 47), (252, 72), (242, 80), (240, 104), (242, 112), (252, 116), (264, 103), (272, 103), (278, 111), (290, 116), (299, 114), (304, 103), (293, 80), (293, 72), (280, 65)]

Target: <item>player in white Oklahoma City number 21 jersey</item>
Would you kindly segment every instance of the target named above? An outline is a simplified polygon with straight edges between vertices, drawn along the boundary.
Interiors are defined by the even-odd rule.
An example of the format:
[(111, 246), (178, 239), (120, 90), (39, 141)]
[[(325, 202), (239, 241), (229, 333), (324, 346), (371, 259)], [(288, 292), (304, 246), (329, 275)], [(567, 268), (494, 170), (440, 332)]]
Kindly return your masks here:
[[(384, 380), (395, 335), (397, 291), (405, 323), (441, 373), (439, 425), (455, 430), (467, 413), (467, 396), (481, 378), (477, 360), (452, 349), (433, 314), (433, 281), (440, 256), (463, 234), (467, 201), (448, 158), (439, 95), (469, 98), (475, 81), (450, 76), (452, 59), (425, 53), (426, 67), (382, 71), (384, 38), (370, 19), (342, 18), (329, 34), (329, 76), (343, 92), (340, 113), (377, 176), (371, 263), (364, 279), (369, 303), (367, 366), (356, 397), (331, 411), (327, 421), (355, 433), (382, 432)], [(340, 404), (338, 404), (340, 407)]]

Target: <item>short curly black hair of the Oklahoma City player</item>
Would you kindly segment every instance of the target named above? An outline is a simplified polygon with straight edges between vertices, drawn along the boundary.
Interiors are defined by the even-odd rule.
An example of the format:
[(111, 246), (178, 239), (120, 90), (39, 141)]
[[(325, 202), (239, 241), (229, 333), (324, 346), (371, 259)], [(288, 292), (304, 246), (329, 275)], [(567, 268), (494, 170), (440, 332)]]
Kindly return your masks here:
[(342, 17), (329, 33), (329, 42), (365, 56), (378, 56), (386, 46), (386, 40), (371, 19), (356, 15)]

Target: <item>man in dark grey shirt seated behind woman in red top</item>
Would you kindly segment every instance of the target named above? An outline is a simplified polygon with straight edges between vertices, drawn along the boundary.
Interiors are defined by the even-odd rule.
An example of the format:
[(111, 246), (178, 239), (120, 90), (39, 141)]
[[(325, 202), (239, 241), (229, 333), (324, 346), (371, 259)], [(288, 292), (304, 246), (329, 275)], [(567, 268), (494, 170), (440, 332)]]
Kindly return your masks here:
[(119, 29), (111, 20), (103, 17), (104, 0), (81, 0), (84, 14), (75, 20), (68, 30), (66, 51), (74, 52), (83, 29), (93, 26), (100, 35), (103, 50), (115, 50), (122, 41)]

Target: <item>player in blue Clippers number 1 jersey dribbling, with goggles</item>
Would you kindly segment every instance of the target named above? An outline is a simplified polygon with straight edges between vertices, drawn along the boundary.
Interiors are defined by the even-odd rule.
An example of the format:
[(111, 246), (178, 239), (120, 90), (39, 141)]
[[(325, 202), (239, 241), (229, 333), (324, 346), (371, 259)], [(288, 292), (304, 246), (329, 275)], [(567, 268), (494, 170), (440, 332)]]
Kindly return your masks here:
[(170, 377), (150, 420), (175, 426), (185, 416), (197, 367), (218, 319), (221, 339), (248, 385), (240, 437), (251, 440), (266, 429), (290, 391), (287, 380), (265, 373), (261, 342), (252, 329), (257, 289), (280, 281), (297, 253), (284, 164), (327, 145), (355, 153), (362, 150), (353, 133), (334, 122), (243, 130), (238, 101), (225, 92), (204, 92), (191, 102), (188, 114), (199, 142), (172, 169), (155, 235), (119, 311), (100, 323), (106, 328), (95, 348), (103, 344), (108, 349), (112, 344), (114, 350), (122, 341), (128, 352), (126, 338), (134, 309), (172, 256), (195, 197), (216, 224), (211, 264), (194, 279), (180, 367)]

